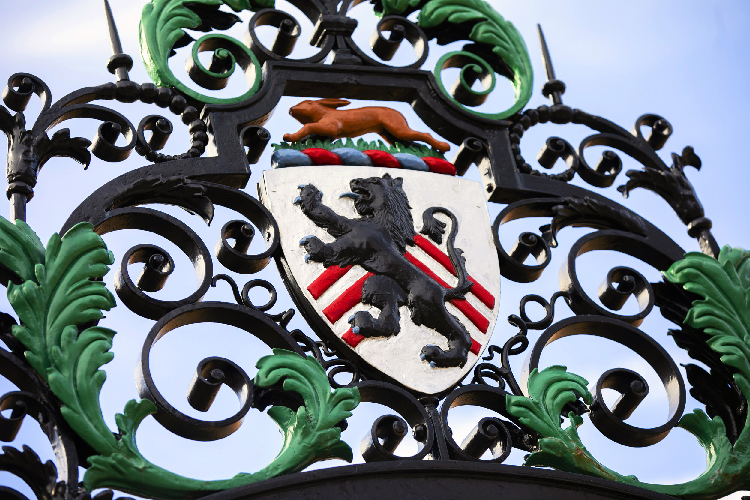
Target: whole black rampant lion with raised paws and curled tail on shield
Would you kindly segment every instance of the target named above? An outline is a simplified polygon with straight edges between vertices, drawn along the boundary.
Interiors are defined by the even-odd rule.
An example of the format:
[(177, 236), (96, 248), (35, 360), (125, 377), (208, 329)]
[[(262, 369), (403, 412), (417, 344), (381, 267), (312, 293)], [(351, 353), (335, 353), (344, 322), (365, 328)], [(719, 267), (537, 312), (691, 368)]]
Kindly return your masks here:
[(451, 211), (432, 207), (422, 214), (422, 234), (441, 243), (446, 223), (437, 220), (439, 212), (451, 218), (452, 226), (447, 247), (451, 262), (458, 270), (458, 284), (446, 289), (410, 262), (404, 253), (414, 245), (414, 222), (402, 178), (389, 174), (380, 177), (357, 178), (350, 181), (351, 193), (341, 197), (354, 199), (359, 218), (349, 219), (323, 205), (323, 193), (312, 184), (301, 185), (300, 196), (294, 203), (302, 208), (316, 226), (326, 229), (336, 238), (323, 243), (316, 236), (306, 236), (299, 242), (314, 262), (326, 268), (359, 265), (374, 273), (362, 286), (362, 302), (381, 310), (378, 318), (366, 311), (350, 316), (353, 331), (365, 337), (390, 337), (401, 331), (398, 308), (406, 305), (411, 310), (415, 325), (425, 325), (446, 337), (449, 348), (422, 347), (422, 361), (432, 367), (463, 367), (472, 345), (471, 336), (458, 318), (446, 309), (446, 301), (464, 298), (473, 285), (466, 274), (462, 250), (454, 247), (458, 220)]

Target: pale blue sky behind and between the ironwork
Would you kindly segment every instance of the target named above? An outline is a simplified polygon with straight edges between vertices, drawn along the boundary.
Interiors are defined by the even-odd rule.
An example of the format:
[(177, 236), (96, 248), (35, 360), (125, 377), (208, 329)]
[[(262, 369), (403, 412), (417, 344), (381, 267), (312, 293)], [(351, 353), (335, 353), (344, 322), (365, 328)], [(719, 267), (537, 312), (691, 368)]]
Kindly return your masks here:
[[(562, 79), (568, 90), (563, 96), (564, 102), (586, 112), (601, 115), (611, 121), (630, 129), (635, 119), (646, 112), (655, 112), (664, 116), (673, 125), (674, 133), (660, 152), (661, 157), (670, 163), (670, 151), (682, 151), (685, 145), (692, 145), (703, 160), (700, 172), (688, 169), (688, 178), (697, 189), (701, 202), (706, 209), (706, 216), (713, 220), (713, 234), (719, 244), (731, 244), (739, 247), (750, 247), (750, 232), (747, 225), (747, 190), (750, 186), (750, 173), (746, 166), (746, 144), (750, 136), (748, 125), (747, 82), (750, 63), (747, 58), (748, 34), (747, 25), (750, 18), (748, 4), (742, 1), (631, 1), (631, 2), (595, 2), (559, 1), (513, 2), (492, 0), (490, 3), (506, 19), (514, 22), (529, 48), (535, 70), (535, 92), (529, 106), (547, 103), (541, 95), (544, 80), (541, 57), (536, 37), (536, 23), (541, 23), (547, 37), (547, 43), (553, 58), (557, 77)], [(138, 22), (141, 1), (112, 1), (115, 19), (121, 34), (124, 51), (133, 56), (135, 67), (131, 79), (137, 82), (148, 82), (150, 79), (139, 61), (137, 42)], [(290, 10), (301, 22), (299, 11), (290, 4), (281, 1), (278, 8)], [(360, 21), (356, 31), (356, 40), (366, 45), (369, 34), (374, 28), (374, 17), (370, 4), (363, 3), (356, 7), (352, 15)], [(247, 29), (249, 13), (243, 13), (242, 25), (236, 25), (229, 34), (242, 39)], [(306, 19), (305, 19), (306, 20)], [(3, 5), (3, 38), (5, 50), (0, 52), (0, 68), (10, 76), (18, 71), (33, 73), (43, 79), (52, 89), (55, 99), (70, 91), (88, 85), (111, 81), (113, 76), (106, 70), (107, 58), (111, 55), (107, 39), (104, 10), (99, 0), (80, 0), (68, 2), (34, 1), (10, 2)], [(302, 38), (309, 36), (311, 24), (302, 22)], [(305, 31), (307, 30), (307, 31)], [(268, 33), (263, 34), (264, 37)], [(462, 43), (454, 44), (460, 47)], [(301, 41), (294, 57), (305, 57), (313, 49)], [(431, 43), (431, 55), (423, 67), (432, 70), (437, 58), (454, 46), (441, 47)], [(172, 58), (175, 74), (184, 76), (185, 49), (178, 51)], [(400, 50), (395, 61), (408, 61), (411, 55), (407, 47)], [(245, 89), (242, 76), (237, 76), (224, 91), (227, 97), (242, 94)], [(447, 78), (446, 82), (451, 82)], [(186, 82), (187, 83), (187, 82)], [(330, 96), (336, 97), (336, 96)], [(507, 82), (498, 82), (493, 97), (483, 109), (497, 111), (509, 104), (511, 88)], [(301, 100), (298, 97), (284, 97), (279, 103), (277, 113), (266, 127), (272, 133), (272, 142), (281, 141), (284, 133), (296, 130), (299, 124), (287, 115), (287, 109)], [(355, 102), (355, 105), (361, 104)], [(137, 123), (143, 115), (152, 112), (162, 113), (155, 106), (142, 103), (121, 104), (104, 103), (124, 113), (130, 121)], [(404, 112), (410, 125), (419, 130), (427, 130), (425, 125), (405, 103), (391, 103)], [(28, 106), (26, 117), (30, 124), (39, 106), (32, 101)], [(163, 113), (162, 113), (163, 114)], [(167, 154), (175, 154), (187, 149), (187, 131), (179, 120), (166, 114), (175, 124), (175, 133), (166, 146)], [(70, 127), (74, 136), (91, 138), (97, 123), (87, 119), (68, 121), (57, 128)], [(580, 139), (589, 135), (586, 127), (565, 125), (564, 127), (545, 124), (529, 130), (521, 142), (527, 160), (535, 157), (547, 136), (561, 136), (577, 145)], [(595, 149), (595, 148), (592, 148)], [(455, 150), (455, 147), (454, 147)], [(637, 168), (637, 163), (620, 155), (625, 163), (623, 172), (628, 168)], [(447, 157), (452, 157), (452, 153)], [(260, 172), (269, 168), (270, 151), (252, 166), (253, 175), (248, 182), (248, 193), (255, 193), (255, 184)], [(595, 157), (592, 156), (592, 159)], [(43, 241), (52, 232), (57, 231), (68, 217), (68, 214), (101, 184), (115, 175), (145, 165), (145, 161), (132, 154), (122, 163), (104, 163), (94, 159), (89, 169), (84, 172), (80, 165), (69, 159), (55, 158), (46, 164), (40, 173), (39, 184), (34, 199), (28, 205), (28, 222), (40, 235)], [(558, 172), (556, 166), (553, 172)], [(468, 178), (478, 178), (475, 168), (469, 170)], [(621, 179), (624, 178), (624, 175)], [(580, 181), (574, 181), (580, 184)], [(616, 182), (615, 185), (620, 184)], [(580, 184), (584, 185), (584, 184)], [(601, 190), (607, 196), (621, 201), (628, 208), (637, 211), (670, 235), (685, 250), (697, 250), (697, 244), (688, 237), (685, 226), (679, 222), (669, 206), (653, 193), (636, 190), (627, 200), (614, 188)], [(494, 217), (501, 205), (490, 206), (490, 215)], [(189, 217), (178, 209), (165, 208), (199, 232), (204, 241), (211, 247), (217, 238), (220, 226), (236, 218), (233, 212), (217, 209), (214, 224), (205, 226), (195, 217)], [(0, 200), (0, 214), (7, 214), (7, 202)], [(545, 221), (518, 221), (508, 224), (507, 232), (502, 233), (502, 241), (509, 244), (518, 233), (524, 230), (535, 230)], [(500, 318), (517, 313), (520, 297), (536, 293), (549, 297), (557, 289), (556, 269), (565, 256), (565, 248), (585, 229), (566, 229), (562, 232), (560, 247), (553, 253), (553, 262), (540, 280), (527, 285), (519, 285), (503, 279)], [(105, 241), (115, 253), (121, 256), (133, 244), (154, 243), (164, 246), (175, 257), (177, 271), (170, 277), (167, 286), (160, 292), (164, 298), (181, 298), (188, 295), (184, 290), (194, 289), (194, 279), (189, 271), (187, 258), (178, 250), (169, 247), (168, 242), (150, 233), (129, 231), (110, 233)], [(579, 260), (579, 262), (581, 262)], [(658, 273), (647, 265), (634, 259), (622, 258), (610, 252), (586, 256), (579, 265), (586, 269), (581, 273), (581, 280), (587, 290), (594, 295), (596, 286), (601, 282), (606, 271), (613, 265), (631, 265), (646, 274), (649, 280), (657, 280)], [(186, 270), (187, 268), (187, 270)], [(136, 272), (133, 269), (131, 272)], [(222, 272), (217, 265), (216, 272)], [(105, 279), (111, 284), (113, 272)], [(275, 283), (282, 295), (277, 309), (291, 307), (284, 287), (278, 279), (274, 266), (269, 266), (257, 277), (263, 277)], [(236, 276), (238, 280), (242, 277)], [(190, 287), (193, 287), (192, 289)], [(260, 297), (258, 300), (260, 301)], [(228, 300), (231, 296), (227, 289), (211, 289), (206, 300)], [(10, 312), (10, 307), (1, 298), (0, 310)], [(627, 307), (632, 307), (628, 304)], [(569, 315), (565, 307), (560, 307), (556, 319)], [(115, 337), (115, 360), (104, 367), (108, 373), (107, 383), (102, 394), (102, 406), (105, 418), (114, 428), (115, 412), (121, 412), (124, 403), (137, 397), (133, 383), (133, 367), (142, 346), (143, 339), (153, 322), (139, 318), (120, 305), (108, 313), (103, 325), (118, 331)], [(690, 362), (682, 350), (673, 345), (666, 336), (671, 325), (658, 312), (652, 313), (641, 329), (664, 344), (667, 350), (679, 363)], [(292, 324), (309, 332), (299, 318)], [(515, 333), (514, 328), (505, 322), (498, 322), (493, 333), (493, 343), (502, 345), (509, 336)], [(535, 340), (539, 332), (532, 332), (529, 337)], [(642, 360), (632, 355), (627, 349), (621, 349), (607, 341), (584, 338), (559, 341), (559, 348), (545, 352), (543, 364), (565, 364), (569, 370), (585, 376), (591, 384), (609, 368), (628, 367), (637, 370), (653, 379), (655, 374), (647, 370)], [(254, 373), (254, 364), (258, 358), (268, 353), (260, 342), (250, 340), (231, 328), (192, 327), (182, 328), (179, 334), (165, 337), (154, 350), (154, 377), (160, 390), (185, 412), (190, 412), (184, 401), (184, 391), (196, 362), (208, 355), (223, 355), (233, 359), (248, 373)], [(522, 357), (522, 356), (521, 356)], [(514, 360), (516, 370), (523, 360)], [(641, 371), (642, 370), (642, 371)], [(658, 384), (652, 383), (652, 395), (633, 415), (634, 424), (643, 427), (655, 427), (664, 421), (667, 407), (663, 389), (659, 392)], [(13, 390), (6, 381), (0, 382), (0, 389)], [(190, 415), (203, 418), (223, 418), (235, 411), (236, 400), (222, 391), (217, 402), (208, 414), (192, 412)], [(688, 397), (686, 409), (700, 407), (700, 403)], [(356, 415), (350, 419), (350, 428), (344, 433), (344, 440), (355, 449), (356, 461), (362, 461), (357, 450), (359, 441), (374, 418), (385, 410), (374, 404), (363, 404)], [(381, 412), (381, 413), (379, 413)], [(462, 409), (452, 413), (452, 425), (455, 433), (462, 436), (481, 416), (481, 412)], [(40, 456), (52, 458), (51, 448), (46, 438), (40, 433), (34, 422), (28, 421), (17, 439), (11, 445), (20, 448), (26, 443), (31, 445)], [(674, 430), (663, 442), (649, 448), (625, 448), (615, 445), (598, 435), (586, 421), (580, 428), (584, 443), (590, 451), (610, 469), (622, 474), (637, 475), (643, 481), (674, 483), (694, 478), (703, 470), (705, 463), (703, 452), (692, 436), (682, 430)], [(163, 430), (153, 419), (148, 418), (139, 431), (139, 445), (149, 460), (190, 477), (205, 479), (224, 478), (236, 472), (254, 472), (261, 469), (278, 452), (281, 437), (275, 430), (275, 424), (266, 415), (253, 411), (248, 415), (245, 425), (233, 436), (218, 442), (190, 442), (178, 438)], [(413, 445), (413, 444), (412, 444)], [(410, 444), (405, 443), (404, 454)], [(400, 450), (401, 451), (401, 450)], [(211, 460), (206, 460), (211, 457)], [(508, 463), (521, 463), (523, 453), (514, 451)], [(320, 466), (343, 465), (341, 462), (323, 463)], [(18, 482), (7, 474), (0, 474), (0, 483), (17, 485)], [(26, 490), (28, 491), (28, 490)], [(739, 498), (739, 494), (736, 495)]]

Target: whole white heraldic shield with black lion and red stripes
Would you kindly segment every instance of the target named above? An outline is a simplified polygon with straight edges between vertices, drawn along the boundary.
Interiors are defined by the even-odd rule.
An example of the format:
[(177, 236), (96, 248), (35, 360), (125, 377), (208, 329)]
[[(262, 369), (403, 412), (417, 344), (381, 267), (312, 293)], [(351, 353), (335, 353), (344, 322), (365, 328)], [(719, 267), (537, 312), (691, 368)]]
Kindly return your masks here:
[(370, 376), (438, 394), (490, 341), (500, 292), (481, 184), (371, 166), (267, 170), (282, 272), (306, 319)]

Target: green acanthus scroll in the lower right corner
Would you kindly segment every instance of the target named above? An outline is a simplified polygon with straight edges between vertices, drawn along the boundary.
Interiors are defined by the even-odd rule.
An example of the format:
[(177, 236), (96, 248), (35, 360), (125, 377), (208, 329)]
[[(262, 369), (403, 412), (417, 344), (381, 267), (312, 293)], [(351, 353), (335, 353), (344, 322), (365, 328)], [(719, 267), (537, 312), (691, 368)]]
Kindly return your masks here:
[[(682, 284), (685, 290), (703, 297), (694, 301), (685, 324), (703, 329), (706, 345), (721, 355), (721, 362), (733, 369), (733, 378), (745, 400), (750, 400), (750, 253), (725, 246), (718, 259), (703, 253), (686, 253), (664, 277)], [(575, 427), (583, 420), (570, 413), (571, 427), (562, 430), (559, 413), (568, 401), (582, 397), (591, 402), (586, 380), (565, 372), (563, 367), (534, 370), (529, 377), (529, 398), (508, 396), (511, 415), (541, 436), (540, 451), (526, 460), (527, 466), (592, 475), (675, 496), (680, 499), (719, 499), (750, 488), (750, 421), (745, 421), (732, 445), (720, 417), (709, 418), (695, 409), (679, 421), (706, 451), (705, 472), (682, 484), (642, 483), (599, 463), (583, 446)]]

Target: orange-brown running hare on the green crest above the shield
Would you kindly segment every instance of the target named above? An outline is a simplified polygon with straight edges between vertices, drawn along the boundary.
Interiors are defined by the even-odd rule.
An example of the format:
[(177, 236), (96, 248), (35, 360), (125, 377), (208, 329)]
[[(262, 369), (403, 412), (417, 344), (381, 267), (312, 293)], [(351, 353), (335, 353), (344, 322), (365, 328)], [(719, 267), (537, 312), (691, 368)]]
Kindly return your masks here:
[(341, 139), (374, 132), (380, 134), (387, 142), (392, 142), (395, 137), (404, 141), (427, 142), (437, 151), (445, 152), (451, 148), (447, 142), (437, 141), (429, 133), (410, 129), (407, 119), (395, 109), (382, 106), (336, 109), (347, 104), (351, 103), (345, 99), (319, 99), (303, 100), (292, 106), (289, 114), (304, 127), (296, 133), (284, 134), (284, 140), (296, 142), (309, 135)]

